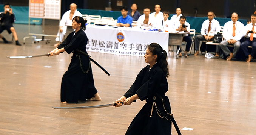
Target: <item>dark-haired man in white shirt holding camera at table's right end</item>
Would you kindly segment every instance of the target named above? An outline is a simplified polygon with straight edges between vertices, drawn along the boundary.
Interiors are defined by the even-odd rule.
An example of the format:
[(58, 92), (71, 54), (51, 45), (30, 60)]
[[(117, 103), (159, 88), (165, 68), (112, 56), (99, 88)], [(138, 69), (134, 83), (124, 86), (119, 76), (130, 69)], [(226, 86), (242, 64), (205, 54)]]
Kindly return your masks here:
[[(178, 31), (179, 33), (190, 32), (190, 24), (186, 21), (186, 17), (184, 15), (182, 15), (180, 17), (180, 20), (174, 24), (174, 30)], [(192, 44), (192, 39), (191, 39), (190, 34), (186, 34), (183, 37), (183, 40), (185, 42), (187, 42), (187, 46), (186, 46), (185, 53), (184, 53), (185, 58), (187, 58), (188, 57), (187, 53), (190, 50), (190, 47)], [(177, 46), (177, 49), (179, 49), (179, 47), (180, 46)], [(180, 50), (179, 57), (181, 57), (181, 56), (182, 56), (182, 54), (181, 54), (181, 50)]]

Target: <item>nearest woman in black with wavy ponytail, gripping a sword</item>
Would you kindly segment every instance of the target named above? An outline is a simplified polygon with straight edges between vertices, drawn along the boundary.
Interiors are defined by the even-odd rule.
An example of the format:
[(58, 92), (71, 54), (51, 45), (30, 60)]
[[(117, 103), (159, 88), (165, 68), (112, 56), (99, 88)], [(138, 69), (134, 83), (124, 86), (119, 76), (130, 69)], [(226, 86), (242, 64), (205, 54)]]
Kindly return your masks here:
[(167, 53), (157, 43), (148, 45), (145, 54), (146, 67), (142, 68), (130, 89), (116, 107), (131, 105), (134, 100), (146, 100), (146, 104), (131, 122), (125, 135), (171, 135), (171, 106), (165, 96), (169, 76)]

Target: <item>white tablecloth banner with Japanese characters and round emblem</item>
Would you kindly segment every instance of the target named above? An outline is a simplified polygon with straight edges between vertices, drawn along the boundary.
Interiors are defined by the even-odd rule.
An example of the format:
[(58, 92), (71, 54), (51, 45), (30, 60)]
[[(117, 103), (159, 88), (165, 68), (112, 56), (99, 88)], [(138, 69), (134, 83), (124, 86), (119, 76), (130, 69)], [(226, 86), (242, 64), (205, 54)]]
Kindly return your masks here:
[(147, 45), (156, 42), (168, 52), (168, 32), (87, 25), (85, 33), (88, 37), (87, 51), (144, 56)]

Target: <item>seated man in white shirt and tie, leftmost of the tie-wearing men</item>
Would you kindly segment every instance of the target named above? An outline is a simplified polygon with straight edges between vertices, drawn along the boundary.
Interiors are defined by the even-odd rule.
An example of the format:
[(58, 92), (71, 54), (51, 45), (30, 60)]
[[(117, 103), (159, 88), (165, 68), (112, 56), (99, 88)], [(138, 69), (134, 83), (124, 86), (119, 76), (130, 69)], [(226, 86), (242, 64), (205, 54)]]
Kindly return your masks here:
[[(199, 46), (200, 46), (200, 41), (202, 40), (207, 40), (208, 34), (210, 31), (214, 31), (214, 32), (220, 32), (220, 25), (219, 25), (219, 21), (213, 19), (215, 16), (215, 14), (213, 12), (208, 12), (208, 19), (205, 20), (202, 24), (202, 28), (201, 28), (201, 35), (196, 35), (195, 37), (195, 50), (196, 53), (194, 54), (194, 56), (199, 55)], [(209, 35), (208, 40), (209, 41), (213, 41), (213, 35)], [(216, 54), (215, 56), (218, 57), (218, 48), (219, 46), (216, 46)]]

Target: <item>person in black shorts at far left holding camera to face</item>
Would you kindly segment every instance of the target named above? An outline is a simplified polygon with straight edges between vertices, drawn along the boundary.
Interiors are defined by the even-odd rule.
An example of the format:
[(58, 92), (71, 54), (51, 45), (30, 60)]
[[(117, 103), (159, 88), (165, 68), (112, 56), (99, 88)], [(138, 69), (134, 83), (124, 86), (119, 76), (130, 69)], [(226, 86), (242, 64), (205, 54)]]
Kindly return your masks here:
[[(12, 9), (10, 8), (10, 4), (5, 3), (4, 9), (4, 12), (0, 13), (0, 33), (2, 33), (3, 30), (7, 30), (9, 34), (12, 33), (16, 41), (16, 45), (21, 46), (21, 44), (18, 41), (17, 33), (13, 27), (13, 23), (15, 22), (15, 16), (12, 12)], [(2, 38), (5, 43), (8, 43), (8, 41), (1, 34), (0, 38)]]

